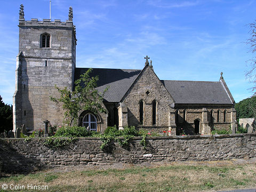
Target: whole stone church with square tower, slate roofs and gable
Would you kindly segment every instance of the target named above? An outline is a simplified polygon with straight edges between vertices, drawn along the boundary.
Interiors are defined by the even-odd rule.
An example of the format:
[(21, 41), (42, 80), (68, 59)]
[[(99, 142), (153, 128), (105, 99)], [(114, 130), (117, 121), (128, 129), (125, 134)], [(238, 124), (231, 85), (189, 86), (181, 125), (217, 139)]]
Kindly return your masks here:
[[(58, 97), (54, 85), (74, 89), (74, 82), (88, 68), (76, 67), (76, 28), (73, 10), (68, 20), (24, 18), (19, 13), (19, 53), (13, 95), (13, 130), (22, 125), (27, 130), (44, 129), (45, 122), (61, 125), (63, 110), (50, 100)], [(135, 126), (156, 132), (210, 134), (225, 129), (235, 133), (236, 110), (224, 78), (219, 81), (161, 80), (153, 63), (145, 57), (141, 69), (93, 68), (100, 92), (109, 86), (102, 106), (108, 113), (80, 111), (79, 125), (103, 132), (107, 126), (119, 129)]]

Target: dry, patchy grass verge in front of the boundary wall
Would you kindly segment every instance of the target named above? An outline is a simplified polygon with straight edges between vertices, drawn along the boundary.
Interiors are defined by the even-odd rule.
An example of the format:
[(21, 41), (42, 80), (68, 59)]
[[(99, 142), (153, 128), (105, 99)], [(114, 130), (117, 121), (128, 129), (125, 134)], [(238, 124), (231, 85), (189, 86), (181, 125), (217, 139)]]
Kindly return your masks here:
[[(256, 164), (158, 165), (107, 170), (40, 171), (0, 178), (9, 187), (48, 186), (38, 191), (213, 191), (255, 188)], [(12, 186), (13, 187), (13, 186)], [(20, 190), (22, 191), (22, 190)], [(33, 190), (34, 191), (34, 190)]]

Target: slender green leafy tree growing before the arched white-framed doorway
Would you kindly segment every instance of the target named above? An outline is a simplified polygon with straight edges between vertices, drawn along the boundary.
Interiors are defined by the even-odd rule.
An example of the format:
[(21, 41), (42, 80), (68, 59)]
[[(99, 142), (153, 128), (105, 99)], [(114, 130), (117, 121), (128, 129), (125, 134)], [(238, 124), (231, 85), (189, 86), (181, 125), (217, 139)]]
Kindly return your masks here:
[(78, 124), (79, 111), (90, 110), (92, 113), (104, 112), (106, 109), (102, 107), (103, 95), (108, 90), (108, 87), (99, 93), (97, 87), (98, 76), (90, 77), (92, 69), (88, 69), (79, 79), (75, 81), (75, 90), (72, 92), (65, 87), (60, 89), (56, 87), (60, 93), (59, 98), (50, 96), (50, 99), (55, 103), (62, 103), (62, 108), (65, 110), (63, 123), (71, 125)]

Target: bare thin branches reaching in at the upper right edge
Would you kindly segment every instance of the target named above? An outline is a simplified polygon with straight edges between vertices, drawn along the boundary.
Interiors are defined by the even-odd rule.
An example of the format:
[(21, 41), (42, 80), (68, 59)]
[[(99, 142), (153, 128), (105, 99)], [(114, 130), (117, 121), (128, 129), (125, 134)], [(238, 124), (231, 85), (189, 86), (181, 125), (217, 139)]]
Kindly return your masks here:
[[(256, 52), (256, 20), (253, 23), (249, 24), (250, 27), (250, 38), (247, 39), (246, 44), (250, 46), (250, 51), (252, 53)], [(250, 80), (251, 83), (253, 83), (252, 91), (254, 92), (254, 95), (256, 94), (256, 57), (253, 57), (250, 60), (246, 61), (247, 64), (250, 65), (250, 69), (246, 71), (246, 78)]]

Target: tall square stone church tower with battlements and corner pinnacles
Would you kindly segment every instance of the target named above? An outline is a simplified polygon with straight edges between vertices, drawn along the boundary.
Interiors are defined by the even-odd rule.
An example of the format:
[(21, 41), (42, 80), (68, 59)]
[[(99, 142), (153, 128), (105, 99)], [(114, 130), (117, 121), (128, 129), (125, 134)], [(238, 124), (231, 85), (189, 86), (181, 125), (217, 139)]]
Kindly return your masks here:
[(50, 101), (58, 87), (73, 89), (76, 67), (76, 31), (73, 10), (68, 20), (31, 19), (25, 21), (23, 5), (19, 13), (19, 54), (13, 95), (13, 130), (43, 129), (44, 121), (61, 124), (63, 111)]

